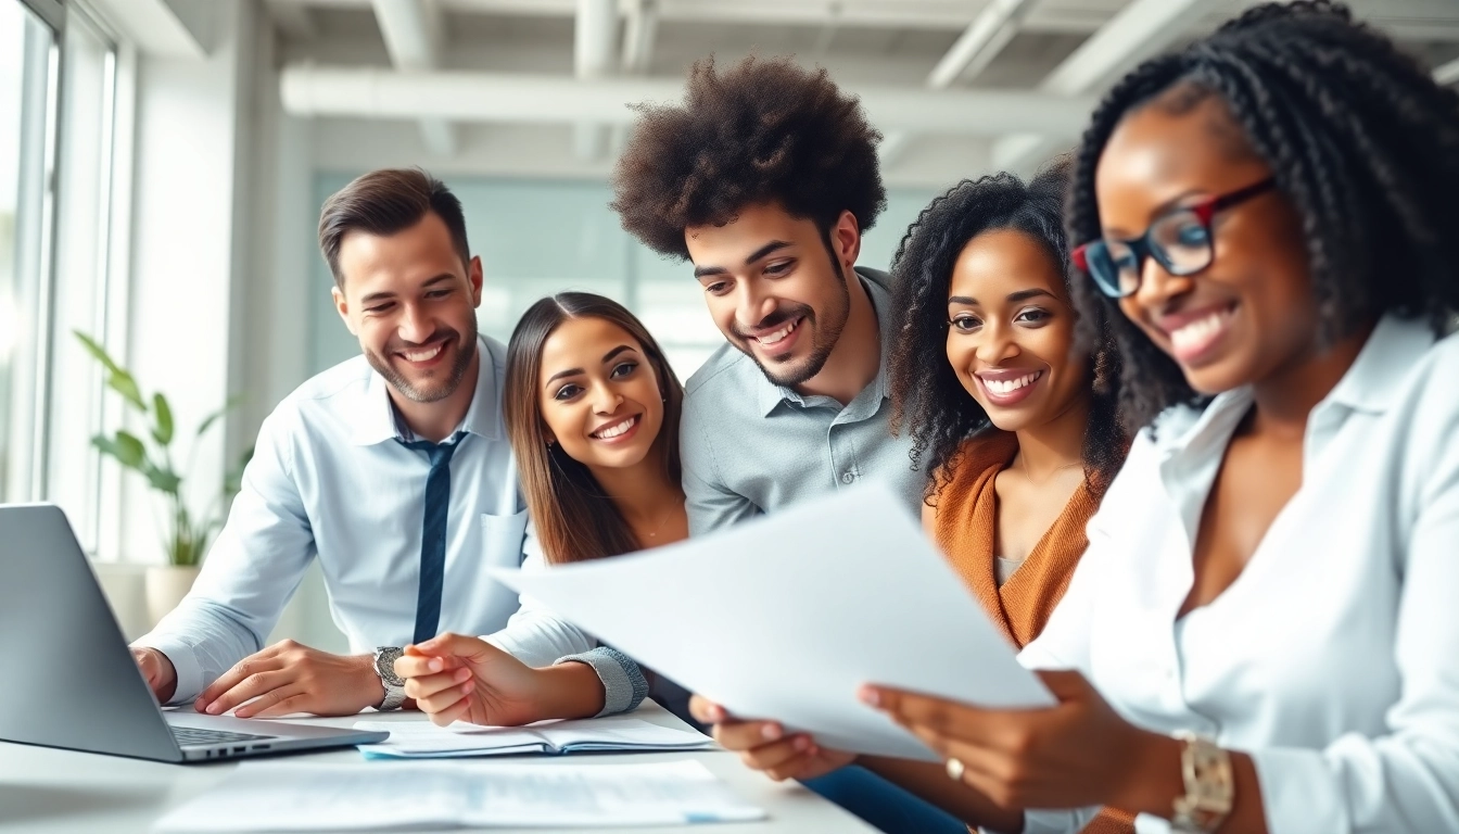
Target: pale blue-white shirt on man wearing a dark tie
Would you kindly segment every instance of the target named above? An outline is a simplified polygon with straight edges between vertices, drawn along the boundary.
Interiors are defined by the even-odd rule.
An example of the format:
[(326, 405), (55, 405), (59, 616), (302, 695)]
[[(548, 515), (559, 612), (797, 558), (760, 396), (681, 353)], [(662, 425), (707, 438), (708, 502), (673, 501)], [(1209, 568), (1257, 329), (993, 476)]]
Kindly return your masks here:
[[(490, 634), (516, 611), (516, 594), (486, 575), (521, 564), (527, 524), (502, 425), (506, 349), (486, 336), (477, 348), (476, 393), (451, 457), (441, 632)], [(264, 647), (315, 556), (350, 651), (410, 643), (430, 462), (397, 440), (409, 438), (387, 383), (363, 356), (299, 386), (268, 415), (193, 593), (136, 641), (177, 667), (172, 703)]]

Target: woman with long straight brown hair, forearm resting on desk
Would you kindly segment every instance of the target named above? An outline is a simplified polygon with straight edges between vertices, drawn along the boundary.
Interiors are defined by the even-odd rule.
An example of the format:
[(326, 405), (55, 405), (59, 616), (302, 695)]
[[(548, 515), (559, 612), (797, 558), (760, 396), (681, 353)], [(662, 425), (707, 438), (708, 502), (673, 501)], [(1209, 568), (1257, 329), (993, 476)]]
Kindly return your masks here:
[[(684, 389), (623, 305), (587, 292), (543, 298), (506, 348), (502, 410), (533, 519), (522, 570), (684, 539), (678, 416)], [(438, 724), (512, 726), (632, 710), (648, 681), (629, 657), (531, 597), (502, 631), (442, 634), (395, 665)]]

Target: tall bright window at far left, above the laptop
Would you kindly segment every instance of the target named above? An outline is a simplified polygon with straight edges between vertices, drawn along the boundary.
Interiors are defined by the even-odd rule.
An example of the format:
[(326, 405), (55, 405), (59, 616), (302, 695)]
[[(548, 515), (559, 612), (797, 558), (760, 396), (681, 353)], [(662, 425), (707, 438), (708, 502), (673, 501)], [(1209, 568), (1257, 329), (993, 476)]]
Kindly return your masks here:
[[(83, 3), (0, 0), (0, 501), (60, 504), (95, 552), (117, 47)], [(108, 412), (109, 413), (109, 412)]]

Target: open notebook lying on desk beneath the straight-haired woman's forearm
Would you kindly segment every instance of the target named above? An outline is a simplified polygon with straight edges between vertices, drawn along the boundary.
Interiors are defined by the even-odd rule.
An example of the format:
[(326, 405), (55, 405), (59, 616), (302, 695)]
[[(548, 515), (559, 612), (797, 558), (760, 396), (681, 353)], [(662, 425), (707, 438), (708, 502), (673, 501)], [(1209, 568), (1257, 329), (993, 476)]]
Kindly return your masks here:
[(569, 752), (693, 751), (713, 741), (693, 730), (676, 730), (629, 716), (575, 722), (538, 722), (525, 727), (481, 727), (423, 722), (359, 722), (356, 729), (384, 729), (390, 739), (360, 745), (365, 758), (458, 758), (477, 755)]

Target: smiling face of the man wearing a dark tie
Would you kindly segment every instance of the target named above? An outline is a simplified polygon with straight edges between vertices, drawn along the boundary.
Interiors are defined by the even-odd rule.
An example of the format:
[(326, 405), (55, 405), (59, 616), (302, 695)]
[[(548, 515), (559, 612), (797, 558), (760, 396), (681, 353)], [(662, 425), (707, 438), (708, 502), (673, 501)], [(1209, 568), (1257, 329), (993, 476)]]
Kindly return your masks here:
[(397, 234), (349, 232), (334, 304), (371, 367), (417, 403), (449, 397), (476, 356), (481, 261), (461, 263), (433, 212)]

